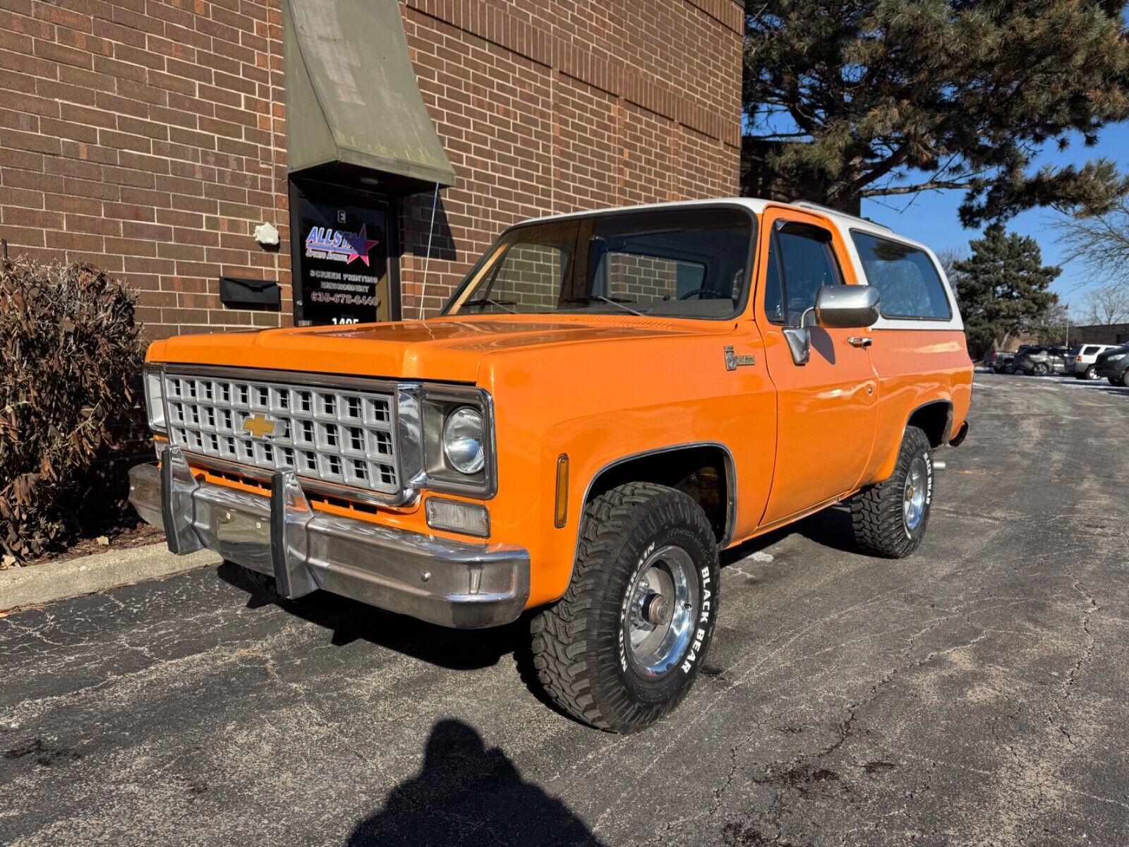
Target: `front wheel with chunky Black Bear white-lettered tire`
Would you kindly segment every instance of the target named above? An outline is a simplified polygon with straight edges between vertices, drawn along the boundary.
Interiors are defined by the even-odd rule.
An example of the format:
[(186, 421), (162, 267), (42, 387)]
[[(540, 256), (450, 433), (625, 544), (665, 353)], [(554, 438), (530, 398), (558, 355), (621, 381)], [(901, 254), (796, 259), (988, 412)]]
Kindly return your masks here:
[(717, 619), (717, 540), (701, 507), (632, 482), (595, 498), (564, 596), (533, 619), (546, 693), (601, 730), (637, 732), (685, 697)]

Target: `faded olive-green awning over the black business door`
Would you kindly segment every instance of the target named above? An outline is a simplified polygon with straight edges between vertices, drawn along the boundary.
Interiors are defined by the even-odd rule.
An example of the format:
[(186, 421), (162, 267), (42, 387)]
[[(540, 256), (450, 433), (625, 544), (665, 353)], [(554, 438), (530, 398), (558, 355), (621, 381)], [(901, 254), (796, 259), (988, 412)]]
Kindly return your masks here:
[(397, 0), (287, 0), (282, 33), (290, 173), (368, 174), (394, 193), (455, 184)]

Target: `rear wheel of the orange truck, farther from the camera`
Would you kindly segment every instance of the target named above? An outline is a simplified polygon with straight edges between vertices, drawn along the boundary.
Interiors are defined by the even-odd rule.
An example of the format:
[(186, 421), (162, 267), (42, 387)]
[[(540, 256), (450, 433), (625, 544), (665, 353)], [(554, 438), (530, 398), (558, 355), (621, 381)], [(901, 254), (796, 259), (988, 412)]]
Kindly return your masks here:
[(850, 500), (855, 541), (873, 556), (909, 556), (925, 536), (931, 505), (929, 438), (917, 427), (907, 427), (890, 479), (863, 489)]

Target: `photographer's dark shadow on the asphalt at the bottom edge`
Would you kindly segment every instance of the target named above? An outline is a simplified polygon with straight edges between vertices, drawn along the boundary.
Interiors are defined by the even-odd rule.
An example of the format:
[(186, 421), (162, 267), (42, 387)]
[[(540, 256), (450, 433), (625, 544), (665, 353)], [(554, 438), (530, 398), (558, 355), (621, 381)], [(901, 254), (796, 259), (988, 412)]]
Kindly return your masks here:
[(592, 845), (599, 841), (563, 803), (522, 778), (514, 762), (462, 721), (440, 721), (420, 772), (358, 821), (347, 847)]

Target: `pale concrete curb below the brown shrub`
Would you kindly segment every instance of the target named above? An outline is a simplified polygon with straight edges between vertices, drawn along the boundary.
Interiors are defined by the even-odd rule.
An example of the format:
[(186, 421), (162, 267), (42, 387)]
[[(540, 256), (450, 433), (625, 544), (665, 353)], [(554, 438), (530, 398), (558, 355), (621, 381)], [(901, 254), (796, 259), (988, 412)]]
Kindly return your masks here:
[(224, 558), (211, 550), (176, 556), (161, 541), (67, 561), (0, 570), (0, 611), (95, 594), (119, 585), (159, 579), (221, 561)]

